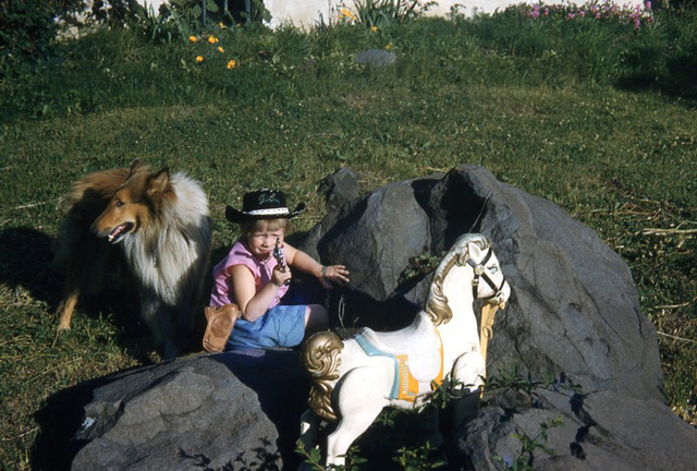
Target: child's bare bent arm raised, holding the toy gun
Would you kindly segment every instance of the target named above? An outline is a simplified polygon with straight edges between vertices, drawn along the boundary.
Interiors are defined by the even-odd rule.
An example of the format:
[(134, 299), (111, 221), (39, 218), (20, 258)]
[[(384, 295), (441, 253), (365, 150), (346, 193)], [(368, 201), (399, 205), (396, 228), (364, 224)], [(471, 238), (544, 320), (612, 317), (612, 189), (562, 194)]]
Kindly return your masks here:
[(242, 312), (242, 317), (245, 321), (255, 322), (267, 312), (279, 288), (283, 286), (283, 281), (290, 279), (291, 271), (286, 270), (284, 274), (280, 269), (274, 269), (271, 281), (266, 283), (259, 292), (256, 292), (254, 275), (246, 266), (231, 266), (228, 268), (228, 276), (231, 277), (232, 291)]

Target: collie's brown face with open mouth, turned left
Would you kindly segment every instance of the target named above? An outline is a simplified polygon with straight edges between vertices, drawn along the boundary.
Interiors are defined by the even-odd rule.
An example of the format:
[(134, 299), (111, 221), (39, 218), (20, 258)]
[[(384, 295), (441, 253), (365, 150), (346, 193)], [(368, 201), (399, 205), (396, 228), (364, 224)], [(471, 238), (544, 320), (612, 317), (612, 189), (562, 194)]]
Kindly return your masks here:
[(123, 241), (157, 218), (161, 201), (172, 193), (171, 190), (167, 168), (150, 173), (134, 166), (125, 183), (93, 224), (93, 232), (106, 237), (110, 243)]

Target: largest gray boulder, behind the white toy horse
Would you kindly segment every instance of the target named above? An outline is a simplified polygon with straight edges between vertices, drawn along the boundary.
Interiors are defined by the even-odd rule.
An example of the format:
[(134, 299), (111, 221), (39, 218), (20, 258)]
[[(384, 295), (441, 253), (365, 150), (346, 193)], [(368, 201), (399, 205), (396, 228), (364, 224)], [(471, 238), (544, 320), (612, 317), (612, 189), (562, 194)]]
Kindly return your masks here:
[[(323, 263), (347, 265), (352, 290), (378, 301), (403, 297), (421, 305), (428, 278), (398, 286), (413, 257), (440, 254), (465, 232), (492, 240), (514, 294), (494, 325), (490, 372), (564, 372), (588, 392), (663, 399), (656, 330), (626, 263), (551, 202), (462, 166), (389, 184), (334, 212), (340, 216), (328, 214), (331, 226), (320, 222), (308, 241)], [(355, 307), (366, 322), (367, 311)]]

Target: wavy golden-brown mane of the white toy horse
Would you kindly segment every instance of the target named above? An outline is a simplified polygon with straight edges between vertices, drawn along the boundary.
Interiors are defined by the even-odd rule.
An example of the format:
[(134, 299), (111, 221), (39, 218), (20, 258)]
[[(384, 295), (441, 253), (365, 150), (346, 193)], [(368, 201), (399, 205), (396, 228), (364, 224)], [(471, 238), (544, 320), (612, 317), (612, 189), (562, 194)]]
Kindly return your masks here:
[(469, 243), (476, 243), (482, 251), (491, 246), (491, 242), (481, 234), (461, 235), (436, 268), (425, 311), (437, 327), (447, 324), (453, 317), (448, 298), (443, 293), (443, 283), (455, 265), (463, 266), (469, 259)]

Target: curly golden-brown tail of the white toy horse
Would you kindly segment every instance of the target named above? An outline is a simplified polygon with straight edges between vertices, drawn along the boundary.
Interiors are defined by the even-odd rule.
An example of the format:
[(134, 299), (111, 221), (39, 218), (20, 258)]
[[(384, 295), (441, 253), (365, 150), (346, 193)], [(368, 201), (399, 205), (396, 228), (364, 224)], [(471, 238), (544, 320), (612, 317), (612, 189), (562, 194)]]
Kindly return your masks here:
[(311, 336), (301, 352), (303, 367), (311, 377), (307, 404), (318, 416), (330, 422), (338, 416), (331, 406), (331, 392), (339, 379), (339, 364), (344, 342), (331, 331), (321, 331)]

